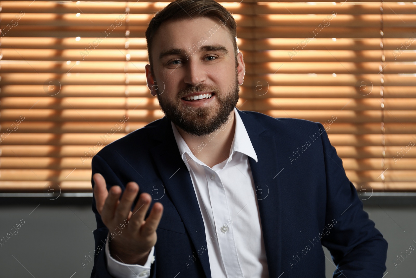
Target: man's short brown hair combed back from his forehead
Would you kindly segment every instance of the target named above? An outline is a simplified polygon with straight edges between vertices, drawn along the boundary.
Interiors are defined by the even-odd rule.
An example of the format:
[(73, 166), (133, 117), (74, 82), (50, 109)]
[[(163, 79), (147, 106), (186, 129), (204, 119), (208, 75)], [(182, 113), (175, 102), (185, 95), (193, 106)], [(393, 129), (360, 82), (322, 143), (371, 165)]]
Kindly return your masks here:
[[(149, 26), (146, 30), (147, 54), (149, 55), (149, 64), (151, 72), (153, 73), (153, 63), (151, 48), (153, 45), (154, 35), (163, 22), (168, 20), (182, 20), (194, 18), (216, 18), (220, 20), (220, 24), (228, 29), (234, 46), (235, 66), (237, 67), (237, 24), (233, 16), (222, 5), (215, 0), (176, 0), (167, 5), (162, 10), (158, 11), (150, 20)], [(184, 34), (186, 35), (186, 34)]]

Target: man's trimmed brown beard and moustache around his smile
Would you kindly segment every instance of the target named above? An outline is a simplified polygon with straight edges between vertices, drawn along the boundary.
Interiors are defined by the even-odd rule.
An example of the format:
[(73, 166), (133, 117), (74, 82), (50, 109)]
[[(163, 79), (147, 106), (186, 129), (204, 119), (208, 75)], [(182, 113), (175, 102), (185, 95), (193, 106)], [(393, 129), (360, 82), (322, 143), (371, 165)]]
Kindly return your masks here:
[[(215, 93), (218, 105), (211, 105), (211, 107), (192, 107), (191, 105), (183, 105), (181, 98), (184, 96), (206, 91)], [(240, 87), (238, 85), (236, 73), (234, 85), (231, 85), (231, 88), (225, 93), (219, 93), (218, 88), (216, 87), (198, 85), (189, 86), (180, 90), (177, 94), (177, 98), (173, 102), (161, 97), (163, 93), (157, 95), (157, 98), (166, 118), (190, 135), (205, 136), (223, 127), (228, 120), (230, 113), (235, 108), (235, 105), (237, 105), (239, 92)], [(216, 102), (216, 100), (213, 101)]]

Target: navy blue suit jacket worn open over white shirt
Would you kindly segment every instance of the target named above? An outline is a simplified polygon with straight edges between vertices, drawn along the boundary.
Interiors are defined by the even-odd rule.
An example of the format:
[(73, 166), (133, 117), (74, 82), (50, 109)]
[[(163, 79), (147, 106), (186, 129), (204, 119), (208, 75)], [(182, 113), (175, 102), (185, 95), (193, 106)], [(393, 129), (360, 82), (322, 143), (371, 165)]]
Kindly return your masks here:
[[(238, 113), (258, 157), (257, 163), (248, 160), (270, 278), (324, 278), (322, 245), (337, 265), (334, 277), (381, 278), (387, 242), (363, 210), (324, 126), (252, 111)], [(211, 277), (204, 223), (170, 120), (155, 120), (105, 146), (92, 159), (95, 173), (104, 176), (107, 189), (119, 185), (124, 190), (135, 181), (139, 194), (147, 192), (152, 204), (163, 204), (151, 277)], [(97, 249), (91, 277), (108, 278), (108, 229), (95, 200), (92, 210)]]

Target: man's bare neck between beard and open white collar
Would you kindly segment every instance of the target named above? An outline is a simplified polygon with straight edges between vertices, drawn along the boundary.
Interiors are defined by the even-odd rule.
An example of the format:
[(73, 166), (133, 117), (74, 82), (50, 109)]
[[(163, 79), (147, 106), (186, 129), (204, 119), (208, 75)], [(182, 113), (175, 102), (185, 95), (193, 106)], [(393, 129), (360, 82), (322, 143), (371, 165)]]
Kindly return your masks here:
[(191, 152), (210, 168), (229, 157), (235, 133), (234, 110), (231, 111), (229, 120), (210, 135), (193, 136), (175, 126)]

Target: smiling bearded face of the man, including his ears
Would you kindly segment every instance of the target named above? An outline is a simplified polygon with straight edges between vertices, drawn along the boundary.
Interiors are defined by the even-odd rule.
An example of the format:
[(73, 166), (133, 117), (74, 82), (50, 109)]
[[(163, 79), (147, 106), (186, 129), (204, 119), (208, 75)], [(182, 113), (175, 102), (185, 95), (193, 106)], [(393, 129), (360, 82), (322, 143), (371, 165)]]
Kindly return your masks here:
[[(241, 53), (235, 66), (225, 24), (210, 18), (170, 21), (154, 37), (154, 77), (146, 65), (147, 84), (166, 117), (191, 135), (221, 128), (238, 102), (245, 67)], [(188, 100), (191, 95), (199, 97)]]

